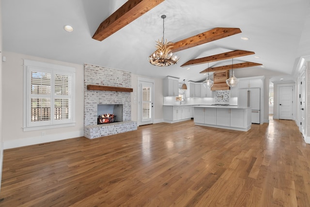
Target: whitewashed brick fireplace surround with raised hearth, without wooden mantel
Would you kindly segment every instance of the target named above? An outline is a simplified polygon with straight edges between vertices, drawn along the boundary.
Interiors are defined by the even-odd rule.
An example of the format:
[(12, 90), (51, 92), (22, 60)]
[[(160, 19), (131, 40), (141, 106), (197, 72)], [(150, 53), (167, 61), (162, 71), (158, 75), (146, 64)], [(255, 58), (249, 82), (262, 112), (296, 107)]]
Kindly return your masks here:
[[(137, 130), (131, 121), (131, 94), (128, 92), (87, 90), (87, 85), (131, 88), (131, 72), (84, 65), (84, 136), (88, 139)], [(123, 104), (123, 122), (97, 125), (98, 104)]]

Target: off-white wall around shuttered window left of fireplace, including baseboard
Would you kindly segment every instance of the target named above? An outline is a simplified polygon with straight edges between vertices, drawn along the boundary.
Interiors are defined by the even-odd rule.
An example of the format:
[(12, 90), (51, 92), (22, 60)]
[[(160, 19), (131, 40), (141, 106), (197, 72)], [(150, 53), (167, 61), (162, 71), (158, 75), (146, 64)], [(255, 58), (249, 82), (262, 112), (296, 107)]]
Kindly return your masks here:
[[(84, 69), (70, 64), (12, 52), (3, 52), (2, 63), (2, 136), (4, 149), (80, 137), (84, 135)], [(23, 131), (23, 59), (60, 64), (76, 68), (76, 126)], [(44, 132), (44, 133), (42, 133)], [(43, 135), (45, 134), (45, 135)]]

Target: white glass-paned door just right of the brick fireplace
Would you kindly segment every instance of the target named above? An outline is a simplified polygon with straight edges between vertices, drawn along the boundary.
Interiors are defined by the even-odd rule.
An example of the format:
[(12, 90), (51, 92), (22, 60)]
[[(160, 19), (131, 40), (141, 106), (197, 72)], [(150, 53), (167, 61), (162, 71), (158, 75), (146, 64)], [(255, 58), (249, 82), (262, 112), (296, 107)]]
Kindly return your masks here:
[(138, 125), (153, 124), (154, 108), (153, 108), (153, 82), (138, 82), (139, 103), (138, 103)]

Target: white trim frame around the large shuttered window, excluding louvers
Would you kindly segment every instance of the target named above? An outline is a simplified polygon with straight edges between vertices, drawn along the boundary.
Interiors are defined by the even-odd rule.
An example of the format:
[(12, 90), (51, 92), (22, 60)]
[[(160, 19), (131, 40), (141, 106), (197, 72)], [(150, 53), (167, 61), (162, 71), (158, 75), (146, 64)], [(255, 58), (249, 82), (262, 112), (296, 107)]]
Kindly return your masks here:
[[(70, 120), (57, 120), (53, 123), (48, 122), (47, 125), (31, 126), (30, 124), (30, 73), (31, 68), (38, 68), (38, 70), (50, 70), (53, 73), (59, 72), (60, 74), (72, 74), (72, 111)], [(75, 79), (76, 79), (76, 69), (74, 67), (49, 64), (43, 62), (37, 62), (32, 60), (24, 59), (24, 112), (23, 112), (23, 131), (32, 131), (48, 128), (57, 127), (72, 127), (75, 126)], [(53, 85), (53, 84), (51, 84)], [(54, 96), (54, 95), (52, 95)], [(52, 107), (52, 106), (51, 106)], [(43, 122), (41, 122), (43, 123)]]

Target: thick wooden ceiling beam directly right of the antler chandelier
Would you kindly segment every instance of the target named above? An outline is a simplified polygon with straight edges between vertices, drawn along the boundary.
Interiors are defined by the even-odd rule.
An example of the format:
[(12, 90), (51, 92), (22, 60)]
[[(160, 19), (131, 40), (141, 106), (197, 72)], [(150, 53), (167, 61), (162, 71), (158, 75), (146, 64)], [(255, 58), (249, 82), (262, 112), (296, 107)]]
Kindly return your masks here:
[(174, 43), (172, 52), (177, 52), (183, 49), (192, 48), (202, 45), (204, 43), (212, 42), (224, 37), (231, 36), (233, 34), (240, 33), (239, 28), (221, 28), (217, 27), (207, 32), (202, 32), (192, 37), (188, 37), (184, 40)]

